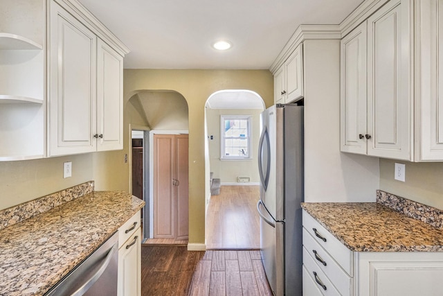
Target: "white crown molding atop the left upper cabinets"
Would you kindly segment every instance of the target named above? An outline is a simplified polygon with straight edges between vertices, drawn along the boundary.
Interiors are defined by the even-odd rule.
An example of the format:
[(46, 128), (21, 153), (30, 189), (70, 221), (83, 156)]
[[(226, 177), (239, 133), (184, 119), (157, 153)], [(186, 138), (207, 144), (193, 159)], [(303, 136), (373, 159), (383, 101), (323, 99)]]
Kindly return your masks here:
[(77, 0), (54, 0), (60, 6), (73, 13), (74, 15), (80, 15), (82, 17), (82, 23), (86, 24), (100, 39), (102, 39), (109, 46), (113, 47), (120, 55), (125, 56), (129, 53), (129, 49), (123, 42), (121, 42), (114, 33), (103, 25), (87, 8), (85, 8)]

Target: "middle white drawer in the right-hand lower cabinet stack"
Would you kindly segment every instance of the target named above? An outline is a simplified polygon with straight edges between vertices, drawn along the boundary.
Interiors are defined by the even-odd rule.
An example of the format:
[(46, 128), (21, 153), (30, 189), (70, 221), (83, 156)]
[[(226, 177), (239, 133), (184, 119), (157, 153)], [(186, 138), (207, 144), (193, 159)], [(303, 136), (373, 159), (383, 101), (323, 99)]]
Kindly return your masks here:
[(314, 238), (303, 229), (303, 245), (318, 268), (334, 283), (342, 295), (350, 295), (352, 278), (341, 269), (340, 265), (321, 247)]

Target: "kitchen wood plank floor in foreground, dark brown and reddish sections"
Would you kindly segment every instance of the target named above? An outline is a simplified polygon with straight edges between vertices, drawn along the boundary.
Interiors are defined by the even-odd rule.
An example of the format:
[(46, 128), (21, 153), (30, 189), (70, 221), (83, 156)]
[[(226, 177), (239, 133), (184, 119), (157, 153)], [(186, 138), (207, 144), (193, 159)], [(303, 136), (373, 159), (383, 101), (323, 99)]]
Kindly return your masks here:
[(142, 247), (142, 295), (272, 296), (260, 251)]

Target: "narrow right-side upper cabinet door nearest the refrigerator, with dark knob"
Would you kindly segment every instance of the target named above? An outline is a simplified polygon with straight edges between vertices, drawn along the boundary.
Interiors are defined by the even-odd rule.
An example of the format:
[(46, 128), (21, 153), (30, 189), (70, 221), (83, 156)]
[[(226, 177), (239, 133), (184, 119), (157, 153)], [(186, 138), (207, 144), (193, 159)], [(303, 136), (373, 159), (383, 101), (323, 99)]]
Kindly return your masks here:
[(341, 150), (366, 154), (366, 22), (341, 40)]

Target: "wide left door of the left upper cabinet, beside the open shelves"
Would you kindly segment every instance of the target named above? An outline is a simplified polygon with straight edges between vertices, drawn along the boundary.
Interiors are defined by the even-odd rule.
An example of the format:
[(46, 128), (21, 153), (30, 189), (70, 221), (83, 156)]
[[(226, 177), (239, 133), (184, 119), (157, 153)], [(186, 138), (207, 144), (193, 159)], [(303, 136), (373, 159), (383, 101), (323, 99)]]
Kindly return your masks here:
[(97, 38), (51, 1), (48, 155), (96, 150)]

